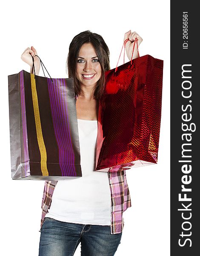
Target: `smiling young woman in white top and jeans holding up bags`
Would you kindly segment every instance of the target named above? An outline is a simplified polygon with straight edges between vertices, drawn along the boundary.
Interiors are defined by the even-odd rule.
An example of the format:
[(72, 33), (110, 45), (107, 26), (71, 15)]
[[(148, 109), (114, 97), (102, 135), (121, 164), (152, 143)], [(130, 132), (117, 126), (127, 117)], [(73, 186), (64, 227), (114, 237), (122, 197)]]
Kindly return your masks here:
[[(131, 59), (136, 32), (126, 32), (126, 53)], [(36, 75), (40, 60), (34, 47), (21, 58)], [(137, 58), (135, 47), (133, 58)], [(90, 31), (76, 35), (69, 46), (69, 78), (74, 79), (80, 161), (83, 177), (45, 182), (39, 256), (72, 256), (81, 242), (82, 256), (113, 256), (120, 244), (123, 212), (131, 207), (126, 170), (94, 172), (98, 101), (110, 69), (109, 49), (103, 38)]]

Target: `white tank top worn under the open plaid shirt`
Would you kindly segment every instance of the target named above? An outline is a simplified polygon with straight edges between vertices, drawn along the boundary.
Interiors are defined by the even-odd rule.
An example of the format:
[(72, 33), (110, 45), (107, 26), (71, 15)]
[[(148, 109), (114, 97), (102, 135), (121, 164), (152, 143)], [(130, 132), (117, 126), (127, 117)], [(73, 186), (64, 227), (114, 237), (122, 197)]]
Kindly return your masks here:
[(108, 173), (94, 171), (97, 120), (77, 120), (83, 177), (69, 177), (57, 182), (46, 217), (71, 223), (110, 225)]

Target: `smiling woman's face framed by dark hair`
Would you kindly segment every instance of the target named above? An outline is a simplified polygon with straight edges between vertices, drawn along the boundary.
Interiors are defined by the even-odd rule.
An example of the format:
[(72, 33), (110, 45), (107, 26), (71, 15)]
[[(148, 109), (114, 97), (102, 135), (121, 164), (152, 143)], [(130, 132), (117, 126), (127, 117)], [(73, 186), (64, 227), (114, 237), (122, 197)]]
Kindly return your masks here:
[(101, 77), (101, 65), (91, 43), (83, 44), (80, 48), (76, 77), (81, 86), (92, 88)]

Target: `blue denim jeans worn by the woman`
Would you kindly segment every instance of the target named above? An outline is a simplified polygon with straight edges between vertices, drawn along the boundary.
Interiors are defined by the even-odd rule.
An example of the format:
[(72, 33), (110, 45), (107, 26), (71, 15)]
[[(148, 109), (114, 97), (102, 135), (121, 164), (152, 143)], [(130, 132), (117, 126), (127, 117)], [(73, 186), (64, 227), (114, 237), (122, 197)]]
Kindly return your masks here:
[(113, 256), (122, 232), (110, 226), (75, 224), (45, 218), (40, 234), (39, 256), (72, 256), (81, 243), (81, 256)]

